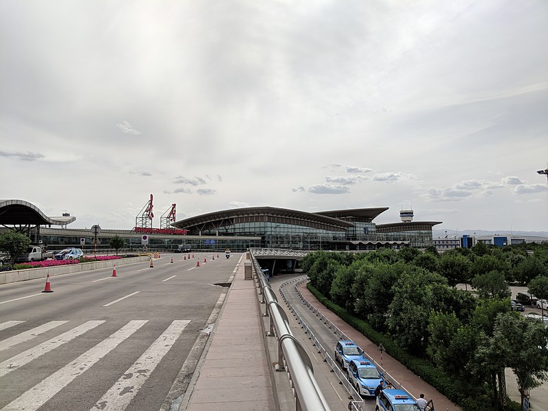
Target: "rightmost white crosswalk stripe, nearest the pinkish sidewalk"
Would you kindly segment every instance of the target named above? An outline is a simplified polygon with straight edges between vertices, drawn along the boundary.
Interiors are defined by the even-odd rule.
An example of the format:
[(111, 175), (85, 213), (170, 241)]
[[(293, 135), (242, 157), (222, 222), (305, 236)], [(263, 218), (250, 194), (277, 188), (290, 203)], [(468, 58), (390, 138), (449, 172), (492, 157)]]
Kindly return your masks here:
[(90, 411), (125, 410), (129, 401), (132, 401), (139, 388), (147, 381), (160, 360), (175, 344), (188, 323), (190, 323), (188, 320), (173, 321)]

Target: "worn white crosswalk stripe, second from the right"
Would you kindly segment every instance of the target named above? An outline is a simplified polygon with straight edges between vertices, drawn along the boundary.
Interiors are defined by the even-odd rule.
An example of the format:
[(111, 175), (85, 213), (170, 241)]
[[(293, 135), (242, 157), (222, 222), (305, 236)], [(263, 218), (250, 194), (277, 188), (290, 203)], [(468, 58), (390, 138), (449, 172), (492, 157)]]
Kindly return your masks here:
[(126, 338), (134, 334), (134, 332), (145, 325), (145, 323), (147, 323), (147, 320), (129, 321), (129, 323), (124, 325), (117, 332), (83, 353), (82, 356), (76, 358), (71, 364), (64, 366), (42, 382), (36, 384), (36, 386), (21, 395), (21, 397), (14, 399), (14, 401), (2, 408), (1, 411), (38, 410), (38, 408), (44, 405), (46, 401), (51, 399), (51, 397), (57, 394), (64, 386), (69, 384), (79, 375), (82, 375), (84, 371), (90, 369), (93, 364), (101, 360), (101, 358), (112, 351), (112, 349), (116, 348)]

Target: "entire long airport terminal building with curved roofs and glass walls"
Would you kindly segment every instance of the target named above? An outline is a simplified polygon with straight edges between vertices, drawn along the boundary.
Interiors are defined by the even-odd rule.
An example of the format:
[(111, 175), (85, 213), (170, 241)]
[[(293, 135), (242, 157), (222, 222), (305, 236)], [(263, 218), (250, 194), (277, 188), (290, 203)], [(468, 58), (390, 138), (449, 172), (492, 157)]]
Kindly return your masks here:
[[(131, 230), (71, 229), (74, 218), (47, 217), (22, 200), (0, 200), (0, 225), (26, 232), (33, 242), (49, 249), (79, 247), (108, 249), (114, 236), (125, 239), (129, 251), (171, 251), (188, 244), (194, 250), (245, 251), (249, 248), (368, 251), (432, 245), (432, 227), (438, 221), (412, 221), (412, 210), (400, 212), (401, 222), (375, 224), (388, 207), (303, 212), (275, 207), (222, 210), (176, 221), (169, 228), (134, 227)], [(146, 242), (144, 238), (146, 237)]]

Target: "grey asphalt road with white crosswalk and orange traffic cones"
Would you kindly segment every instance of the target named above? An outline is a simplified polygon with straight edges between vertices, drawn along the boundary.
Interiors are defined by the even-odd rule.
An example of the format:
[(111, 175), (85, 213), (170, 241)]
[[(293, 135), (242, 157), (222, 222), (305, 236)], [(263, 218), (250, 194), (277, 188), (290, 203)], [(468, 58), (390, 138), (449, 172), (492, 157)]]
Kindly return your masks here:
[(185, 256), (0, 286), (0, 410), (169, 410), (240, 258)]

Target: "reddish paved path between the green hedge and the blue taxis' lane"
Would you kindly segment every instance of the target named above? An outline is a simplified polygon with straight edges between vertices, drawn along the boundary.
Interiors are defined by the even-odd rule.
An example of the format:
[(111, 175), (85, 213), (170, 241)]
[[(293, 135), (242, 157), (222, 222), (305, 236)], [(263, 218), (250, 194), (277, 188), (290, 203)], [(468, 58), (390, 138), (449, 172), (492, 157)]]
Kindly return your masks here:
[(379, 347), (377, 347), (377, 345), (373, 344), (368, 338), (365, 338), (362, 333), (358, 332), (356, 329), (353, 329), (350, 325), (345, 323), (345, 321), (341, 320), (332, 311), (325, 308), (325, 306), (318, 301), (316, 297), (314, 297), (312, 292), (306, 288), (306, 282), (299, 285), (299, 290), (301, 291), (303, 297), (308, 300), (308, 302), (310, 302), (316, 310), (321, 312), (321, 314), (329, 319), (329, 321), (334, 323), (340, 331), (349, 336), (349, 338), (360, 346), (368, 356), (373, 358), (373, 360), (379, 364), (382, 364), (382, 367), (386, 370), (386, 372), (393, 375), (393, 377), (397, 379), (399, 384), (401, 384), (401, 386), (403, 386), (408, 393), (414, 395), (414, 397), (419, 397), (419, 394), (423, 393), (426, 399), (432, 399), (434, 401), (436, 411), (461, 410), (458, 406), (456, 406), (456, 404), (449, 401), (447, 397), (438, 393), (436, 388), (427, 384), (423, 381), (423, 379), (421, 379), (421, 377), (409, 371), (406, 366), (403, 366), (403, 364), (395, 360), (393, 357), (388, 356), (386, 353), (381, 354), (381, 351), (379, 351)]

